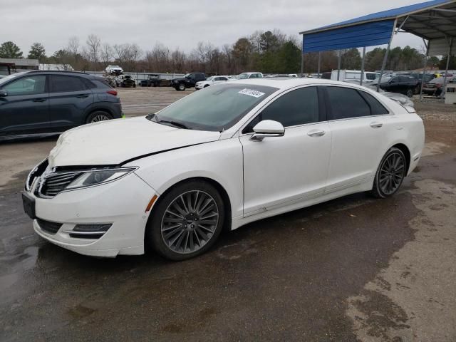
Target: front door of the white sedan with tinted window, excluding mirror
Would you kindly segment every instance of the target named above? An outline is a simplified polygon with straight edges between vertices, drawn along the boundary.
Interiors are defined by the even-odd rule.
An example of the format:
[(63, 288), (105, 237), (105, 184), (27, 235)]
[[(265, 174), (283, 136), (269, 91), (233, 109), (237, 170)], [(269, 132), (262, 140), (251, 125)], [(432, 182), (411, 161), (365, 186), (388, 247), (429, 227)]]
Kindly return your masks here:
[[(318, 89), (291, 90), (262, 109), (242, 130), (244, 217), (289, 207), (323, 194), (331, 131), (319, 106)], [(261, 120), (279, 121), (285, 135), (250, 140)]]

